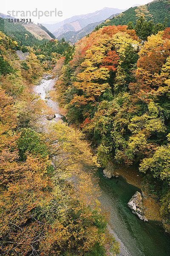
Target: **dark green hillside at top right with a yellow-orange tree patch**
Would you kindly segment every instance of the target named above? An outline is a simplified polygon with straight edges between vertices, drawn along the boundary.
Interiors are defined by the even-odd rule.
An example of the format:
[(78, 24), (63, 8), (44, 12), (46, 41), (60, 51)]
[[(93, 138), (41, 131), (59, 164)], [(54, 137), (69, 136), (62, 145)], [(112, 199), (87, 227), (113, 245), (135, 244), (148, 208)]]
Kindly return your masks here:
[(133, 26), (136, 25), (136, 20), (143, 16), (146, 21), (153, 20), (153, 23), (164, 23), (167, 17), (166, 26), (170, 26), (170, 1), (169, 0), (154, 0), (142, 6), (135, 6), (127, 9), (126, 11), (112, 17), (110, 21), (105, 20), (100, 24), (102, 26), (112, 25), (127, 25), (130, 21)]

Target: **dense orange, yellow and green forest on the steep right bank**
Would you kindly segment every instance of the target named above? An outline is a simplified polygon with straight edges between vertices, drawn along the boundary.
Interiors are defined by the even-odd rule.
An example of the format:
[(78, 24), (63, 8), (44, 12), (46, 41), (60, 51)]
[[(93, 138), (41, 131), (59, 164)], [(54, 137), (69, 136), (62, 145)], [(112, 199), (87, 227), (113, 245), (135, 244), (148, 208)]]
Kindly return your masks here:
[(77, 42), (68, 64), (57, 62), (56, 97), (103, 167), (112, 160), (139, 169), (170, 231), (170, 28), (144, 41), (141, 20)]

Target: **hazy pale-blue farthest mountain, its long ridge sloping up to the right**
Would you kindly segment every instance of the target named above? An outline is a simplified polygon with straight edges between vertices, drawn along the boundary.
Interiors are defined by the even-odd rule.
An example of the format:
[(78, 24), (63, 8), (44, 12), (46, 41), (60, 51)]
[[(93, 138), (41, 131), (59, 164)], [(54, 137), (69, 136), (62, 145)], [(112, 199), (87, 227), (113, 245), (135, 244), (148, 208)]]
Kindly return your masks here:
[[(63, 21), (55, 23), (55, 24), (42, 24), (42, 25), (44, 25), (49, 31), (54, 33), (55, 31), (57, 31), (57, 29), (61, 28), (64, 24), (70, 24), (70, 23), (78, 20), (78, 22), (81, 26), (80, 29), (82, 29), (90, 23), (99, 22), (100, 20), (105, 20), (106, 18), (110, 17), (111, 15), (120, 13), (122, 11), (124, 11), (124, 10), (105, 7), (102, 10), (99, 10), (99, 11), (96, 11), (93, 13), (73, 16), (71, 18), (68, 18), (66, 20), (63, 20)], [(62, 30), (60, 33), (62, 34), (67, 31)], [(77, 30), (73, 29), (70, 31), (77, 31)]]

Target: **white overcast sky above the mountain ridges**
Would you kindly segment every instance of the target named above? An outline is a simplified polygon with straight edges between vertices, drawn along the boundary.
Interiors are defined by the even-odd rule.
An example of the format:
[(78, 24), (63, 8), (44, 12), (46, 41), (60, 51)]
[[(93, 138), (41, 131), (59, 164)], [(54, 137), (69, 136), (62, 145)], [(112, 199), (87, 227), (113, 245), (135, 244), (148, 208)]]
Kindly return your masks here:
[[(58, 22), (74, 15), (87, 14), (101, 10), (104, 7), (128, 9), (133, 5), (144, 5), (152, 0), (8, 0), (0, 4), (0, 12), (11, 14), (18, 18), (30, 18), (26, 16), (26, 11), (31, 12), (31, 21), (37, 23), (48, 23), (50, 21)], [(36, 12), (37, 9), (37, 12)], [(12, 11), (13, 14), (12, 15)], [(16, 12), (18, 11), (17, 15)], [(35, 17), (33, 17), (32, 12)], [(28, 12), (28, 14), (30, 14)], [(38, 17), (38, 14), (40, 17)]]

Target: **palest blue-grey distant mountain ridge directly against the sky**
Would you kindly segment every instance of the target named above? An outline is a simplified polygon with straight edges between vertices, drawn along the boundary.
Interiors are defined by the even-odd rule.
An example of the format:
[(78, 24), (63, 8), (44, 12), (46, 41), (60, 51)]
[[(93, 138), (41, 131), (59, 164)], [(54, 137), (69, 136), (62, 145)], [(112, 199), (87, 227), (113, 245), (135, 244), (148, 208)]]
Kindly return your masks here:
[[(90, 23), (95, 23), (95, 22), (99, 22), (100, 20), (105, 20), (107, 17), (113, 15), (114, 13), (116, 14), (122, 11), (124, 10), (105, 7), (102, 10), (99, 10), (93, 13), (83, 14), (83, 15), (76, 15), (55, 24), (42, 24), (42, 25), (45, 26), (54, 35), (59, 36), (59, 34), (62, 34), (68, 31), (81, 30), (82, 28), (84, 28)], [(65, 24), (67, 25), (63, 26)]]

